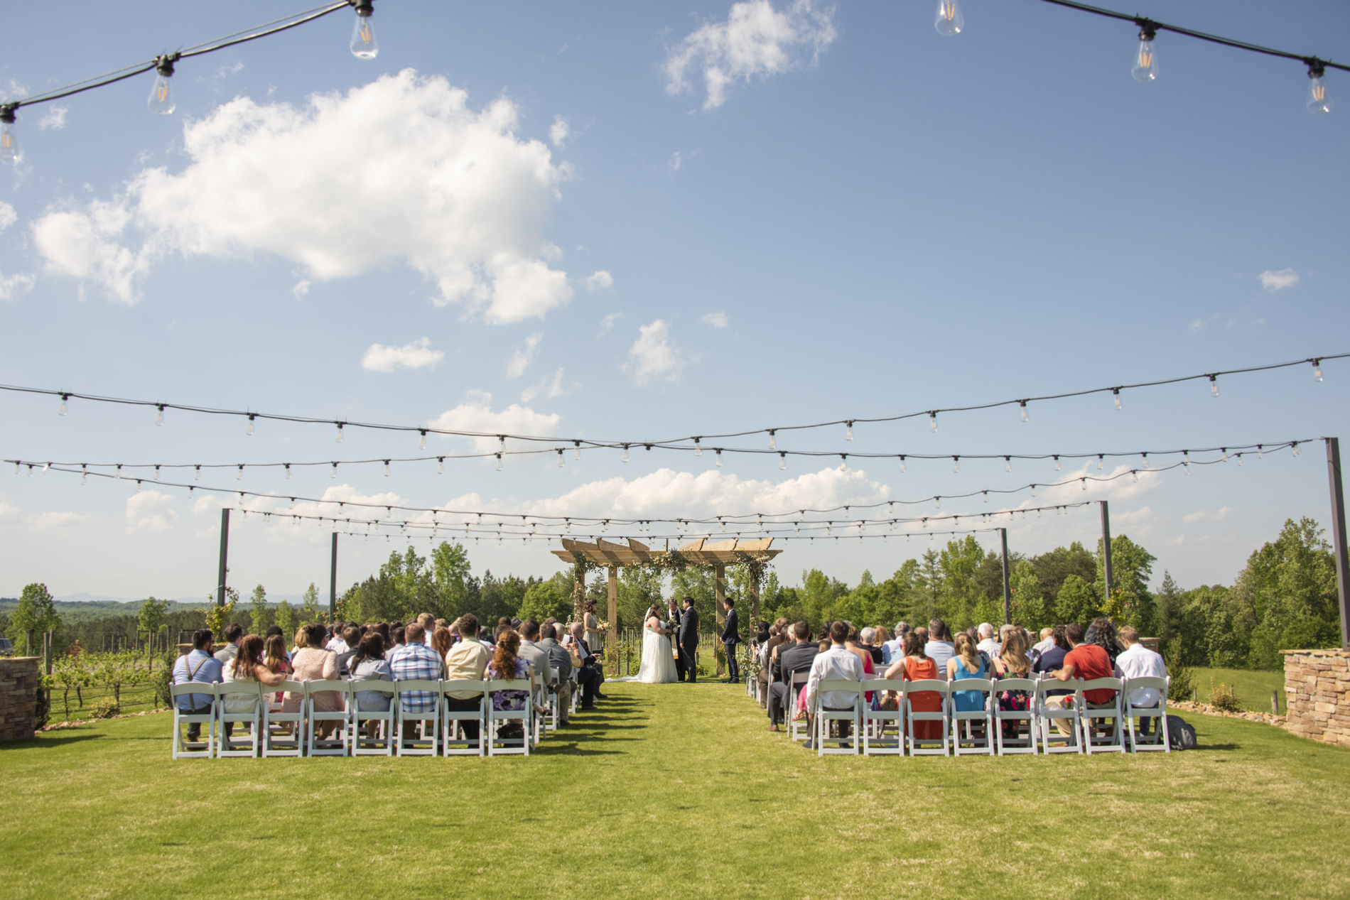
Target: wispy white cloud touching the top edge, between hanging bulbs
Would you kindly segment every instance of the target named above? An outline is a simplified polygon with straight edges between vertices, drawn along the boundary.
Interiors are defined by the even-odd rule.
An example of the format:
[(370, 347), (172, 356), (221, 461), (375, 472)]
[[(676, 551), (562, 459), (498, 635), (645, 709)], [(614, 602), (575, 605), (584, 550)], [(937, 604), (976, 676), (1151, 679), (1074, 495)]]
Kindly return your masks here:
[[(745, 0), (732, 5), (726, 22), (707, 22), (686, 36), (666, 59), (666, 90), (693, 88), (688, 73), (702, 69), (707, 99), (705, 109), (726, 101), (728, 85), (748, 82), (814, 65), (834, 40), (834, 8), (819, 9), (813, 0), (792, 0), (779, 12), (770, 0)], [(672, 169), (679, 169), (679, 154)]]

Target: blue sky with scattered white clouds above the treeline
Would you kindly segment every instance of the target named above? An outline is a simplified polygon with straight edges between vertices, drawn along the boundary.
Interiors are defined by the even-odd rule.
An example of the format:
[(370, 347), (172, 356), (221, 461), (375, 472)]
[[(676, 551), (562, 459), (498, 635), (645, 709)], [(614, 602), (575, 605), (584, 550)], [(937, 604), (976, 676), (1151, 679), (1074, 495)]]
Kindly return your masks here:
[[(1301, 65), (1164, 34), (1130, 78), (1129, 23), (1035, 0), (544, 4), (379, 0), (193, 61), (171, 116), (151, 77), (20, 109), (0, 173), (0, 381), (202, 406), (643, 440), (867, 417), (1347, 349), (1350, 107), (1311, 116)], [(279, 3), (27, 4), (8, 96), (293, 12)], [(1135, 9), (1131, 8), (1131, 12)], [(1138, 12), (1335, 58), (1335, 3)], [(749, 43), (745, 43), (745, 42)], [(745, 55), (728, 47), (752, 47)], [(721, 81), (709, 70), (721, 73)], [(1335, 100), (1350, 81), (1330, 73)], [(725, 84), (724, 84), (725, 82)], [(721, 85), (721, 86), (720, 86)], [(65, 109), (54, 112), (51, 107)], [(46, 127), (43, 127), (46, 125)], [(9, 215), (12, 209), (12, 216)], [(1265, 278), (1262, 279), (1262, 274)], [(1350, 434), (1350, 364), (1108, 398), (799, 433), (780, 448), (1069, 453)], [(414, 456), (417, 436), (0, 395), (3, 456), (263, 463)], [(741, 445), (767, 445), (745, 439)], [(432, 451), (470, 441), (432, 439)], [(1000, 488), (1050, 463), (852, 463), (636, 449), (246, 472), (247, 490), (624, 517)], [(1065, 472), (1075, 467), (1065, 466)], [(1095, 470), (1094, 470), (1095, 471)], [(1094, 474), (1087, 471), (1085, 474)], [(240, 486), (232, 475), (202, 483)], [(1033, 505), (1017, 495), (1010, 506)], [(1184, 586), (1231, 582), (1289, 517), (1328, 521), (1320, 445), (1134, 484), (1114, 530)], [(285, 506), (285, 501), (281, 502)], [(0, 474), (0, 594), (204, 596), (217, 503), (184, 490)], [(278, 509), (271, 501), (252, 509)], [(944, 502), (942, 511), (995, 506)], [(568, 513), (567, 510), (571, 510)], [(1092, 509), (1010, 524), (1037, 553), (1092, 542)], [(606, 534), (618, 537), (618, 533)], [(640, 536), (645, 537), (645, 536)], [(981, 536), (987, 546), (996, 538)], [(343, 544), (339, 582), (398, 538)], [(929, 541), (788, 541), (780, 576), (887, 575)], [(231, 583), (327, 590), (328, 537), (256, 515)], [(421, 541), (425, 549), (427, 542)], [(555, 544), (556, 546), (556, 544)], [(547, 575), (544, 544), (470, 545), (474, 571)]]

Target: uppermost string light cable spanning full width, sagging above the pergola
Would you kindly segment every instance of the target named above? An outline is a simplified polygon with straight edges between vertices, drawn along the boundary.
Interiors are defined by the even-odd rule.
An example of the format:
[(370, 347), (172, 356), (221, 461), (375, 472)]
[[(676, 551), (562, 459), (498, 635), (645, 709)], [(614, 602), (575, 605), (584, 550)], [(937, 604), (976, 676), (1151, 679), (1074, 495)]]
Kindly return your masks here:
[[(1219, 383), (1218, 379), (1220, 376), (1243, 375), (1243, 374), (1249, 374), (1249, 372), (1266, 372), (1266, 371), (1274, 371), (1274, 370), (1278, 370), (1278, 368), (1289, 368), (1292, 366), (1308, 366), (1308, 364), (1311, 364), (1312, 366), (1314, 381), (1320, 382), (1322, 381), (1322, 363), (1324, 360), (1328, 360), (1328, 359), (1346, 359), (1346, 358), (1350, 358), (1350, 354), (1323, 354), (1320, 356), (1310, 356), (1310, 358), (1305, 358), (1305, 359), (1292, 360), (1292, 362), (1287, 362), (1287, 363), (1269, 363), (1269, 364), (1265, 364), (1265, 366), (1247, 366), (1247, 367), (1243, 367), (1243, 368), (1228, 368), (1228, 370), (1222, 370), (1222, 371), (1199, 372), (1199, 374), (1195, 374), (1195, 375), (1181, 375), (1181, 376), (1177, 376), (1177, 378), (1160, 378), (1160, 379), (1153, 379), (1153, 381), (1146, 381), (1146, 382), (1135, 382), (1135, 383), (1130, 383), (1130, 385), (1115, 385), (1115, 386), (1106, 386), (1106, 387), (1089, 387), (1089, 389), (1085, 389), (1085, 390), (1061, 391), (1061, 393), (1057, 393), (1057, 394), (1042, 394), (1042, 395), (1035, 395), (1035, 397), (1022, 397), (1022, 398), (1013, 398), (1013, 399), (1002, 399), (1002, 401), (994, 401), (994, 402), (987, 402), (987, 403), (971, 403), (971, 405), (965, 405), (965, 406), (933, 407), (933, 409), (923, 409), (923, 410), (919, 410), (919, 412), (896, 413), (896, 414), (891, 414), (891, 416), (871, 416), (871, 417), (852, 416), (849, 418), (836, 418), (836, 420), (830, 420), (830, 421), (810, 422), (810, 424), (803, 424), (803, 425), (778, 425), (778, 426), (774, 426), (774, 428), (752, 428), (752, 429), (736, 430), (736, 432), (705, 433), (705, 434), (698, 434), (698, 436), (670, 437), (670, 439), (660, 439), (660, 440), (593, 440), (593, 439), (563, 439), (563, 440), (560, 440), (558, 437), (548, 437), (548, 436), (543, 436), (543, 434), (513, 434), (513, 433), (500, 433), (500, 432), (471, 432), (471, 430), (459, 430), (459, 429), (447, 429), (447, 428), (433, 428), (431, 425), (392, 425), (392, 424), (382, 424), (382, 422), (363, 422), (363, 421), (343, 420), (343, 418), (331, 418), (331, 417), (319, 417), (319, 416), (292, 416), (292, 414), (281, 414), (281, 413), (250, 412), (250, 410), (240, 410), (240, 409), (220, 409), (220, 407), (215, 407), (215, 406), (198, 406), (198, 405), (189, 405), (189, 403), (171, 403), (171, 402), (166, 402), (166, 401), (130, 399), (130, 398), (123, 398), (123, 397), (105, 397), (105, 395), (100, 395), (100, 394), (81, 394), (78, 391), (53, 390), (53, 389), (47, 389), (47, 387), (27, 387), (27, 386), (22, 386), (22, 385), (0, 385), (0, 391), (20, 393), (20, 394), (39, 394), (39, 395), (47, 395), (47, 397), (58, 397), (58, 398), (61, 398), (61, 405), (57, 409), (57, 414), (58, 416), (66, 416), (68, 414), (68, 412), (69, 412), (68, 410), (68, 403), (69, 403), (70, 399), (85, 399), (85, 401), (92, 401), (92, 402), (99, 402), (99, 403), (115, 403), (115, 405), (123, 405), (123, 406), (153, 406), (159, 413), (163, 413), (163, 410), (167, 410), (167, 409), (173, 409), (173, 410), (180, 410), (180, 412), (186, 412), (186, 413), (200, 413), (200, 414), (207, 414), (207, 416), (235, 416), (235, 417), (240, 417), (240, 418), (243, 418), (243, 420), (247, 421), (247, 424), (248, 424), (247, 433), (248, 434), (254, 433), (252, 432), (252, 426), (254, 426), (255, 421), (278, 421), (278, 422), (297, 422), (297, 424), (306, 424), (306, 425), (328, 425), (328, 426), (336, 426), (336, 429), (338, 429), (336, 443), (339, 443), (339, 444), (343, 443), (343, 440), (344, 440), (344, 429), (348, 429), (348, 428), (382, 430), (382, 432), (404, 432), (404, 433), (413, 433), (413, 432), (416, 432), (417, 434), (421, 436), (421, 444), (420, 445), (425, 445), (427, 434), (439, 434), (439, 436), (443, 436), (443, 437), (489, 437), (489, 439), (497, 439), (497, 441), (498, 441), (497, 451), (493, 451), (490, 453), (479, 453), (477, 456), (497, 456), (498, 459), (501, 456), (504, 456), (504, 455), (510, 455), (512, 452), (520, 452), (520, 451), (506, 451), (505, 447), (506, 447), (506, 441), (508, 440), (526, 441), (526, 443), (535, 443), (535, 444), (548, 444), (551, 447), (547, 451), (536, 451), (536, 452), (558, 453), (559, 457), (562, 457), (562, 455), (567, 449), (574, 449), (575, 455), (579, 456), (583, 447), (587, 448), (587, 449), (622, 449), (625, 455), (628, 453), (628, 451), (630, 448), (636, 448), (636, 447), (643, 447), (645, 449), (653, 449), (653, 448), (660, 448), (660, 449), (680, 449), (680, 451), (690, 451), (691, 449), (691, 451), (694, 451), (695, 456), (702, 456), (703, 455), (703, 447), (702, 447), (703, 441), (718, 440), (718, 439), (730, 439), (730, 437), (747, 437), (747, 436), (752, 436), (752, 434), (768, 434), (770, 447), (767, 449), (748, 449), (748, 448), (747, 449), (736, 449), (736, 448), (728, 448), (728, 447), (722, 447), (722, 448), (711, 448), (710, 447), (709, 449), (717, 449), (717, 451), (725, 452), (725, 453), (779, 453), (779, 455), (803, 453), (803, 455), (807, 455), (807, 452), (805, 452), (805, 451), (784, 451), (784, 449), (779, 449), (778, 444), (776, 444), (776, 434), (778, 434), (778, 432), (811, 430), (811, 429), (819, 429), (819, 428), (837, 428), (840, 425), (844, 425), (844, 426), (848, 428), (848, 434), (850, 436), (852, 432), (853, 432), (853, 429), (859, 424), (898, 422), (898, 421), (905, 421), (905, 420), (910, 420), (910, 418), (919, 418), (919, 417), (926, 417), (929, 420), (930, 429), (932, 430), (937, 430), (937, 417), (938, 417), (938, 414), (969, 413), (969, 412), (979, 412), (979, 410), (987, 410), (987, 409), (998, 409), (998, 407), (1002, 407), (1002, 406), (1017, 406), (1018, 410), (1022, 413), (1022, 421), (1030, 421), (1030, 418), (1027, 416), (1027, 403), (1033, 403), (1033, 402), (1042, 402), (1042, 401), (1052, 401), (1052, 399), (1068, 399), (1068, 398), (1075, 398), (1075, 397), (1088, 397), (1088, 395), (1092, 395), (1092, 394), (1110, 394), (1115, 409), (1123, 409), (1122, 399), (1120, 399), (1120, 393), (1122, 391), (1135, 390), (1135, 389), (1142, 389), (1142, 387), (1160, 387), (1160, 386), (1164, 386), (1164, 385), (1180, 385), (1180, 383), (1184, 383), (1184, 382), (1193, 382), (1193, 381), (1204, 381), (1206, 383), (1208, 383), (1211, 386), (1211, 395), (1212, 397), (1218, 397), (1218, 383)], [(567, 444), (571, 444), (571, 447), (567, 447)], [(830, 452), (825, 452), (825, 451), (815, 451), (815, 452), (810, 452), (809, 455), (815, 455), (815, 456), (838, 456), (840, 453), (830, 453)], [(848, 453), (848, 455), (849, 456), (867, 456), (865, 453)], [(436, 455), (436, 456), (439, 457), (441, 455)], [(450, 455), (444, 455), (444, 456), (447, 459), (451, 457)], [(473, 456), (474, 455), (462, 455), (462, 456), (459, 456), (459, 459), (466, 459), (466, 457), (473, 457)], [(880, 455), (875, 455), (875, 456), (899, 456), (899, 455), (898, 453), (880, 453)], [(938, 455), (938, 456), (945, 456), (945, 455)], [(971, 459), (975, 459), (975, 457), (972, 456)], [(559, 461), (562, 461), (562, 459), (559, 459)]]

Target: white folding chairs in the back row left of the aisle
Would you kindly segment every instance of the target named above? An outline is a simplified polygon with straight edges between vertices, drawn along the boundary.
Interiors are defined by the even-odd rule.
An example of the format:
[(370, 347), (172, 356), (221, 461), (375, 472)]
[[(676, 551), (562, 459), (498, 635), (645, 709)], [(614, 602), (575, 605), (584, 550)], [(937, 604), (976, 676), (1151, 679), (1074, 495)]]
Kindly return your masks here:
[[(284, 681), (265, 688), (258, 681), (174, 684), (173, 758), (193, 757), (274, 757), (274, 756), (529, 756), (563, 718), (559, 694), (545, 688), (544, 675), (521, 680), (394, 680), (394, 681)], [(549, 668), (548, 684), (558, 684), (558, 671)], [(300, 695), (300, 708), (273, 708), (275, 691)], [(495, 710), (498, 691), (528, 691), (524, 710)], [(358, 694), (381, 694), (387, 708), (360, 710)], [(410, 695), (432, 695), (431, 710), (417, 710), (424, 702)], [(321, 710), (317, 695), (339, 696), (338, 710)], [(471, 694), (477, 708), (452, 710), (452, 694)], [(180, 708), (178, 698), (209, 698), (200, 712)], [(572, 691), (570, 712), (576, 710)], [(325, 698), (328, 699), (328, 698)], [(251, 700), (251, 703), (250, 703)], [(197, 700), (186, 700), (196, 708)], [(459, 706), (460, 703), (456, 703)], [(537, 712), (537, 706), (547, 712)], [(230, 711), (246, 707), (244, 711)], [(470, 738), (468, 723), (477, 722), (478, 737)], [(498, 727), (520, 723), (520, 734), (500, 737)], [(207, 739), (189, 742), (184, 726), (205, 729)], [(374, 727), (371, 727), (374, 725)], [(405, 726), (409, 726), (405, 729)]]

